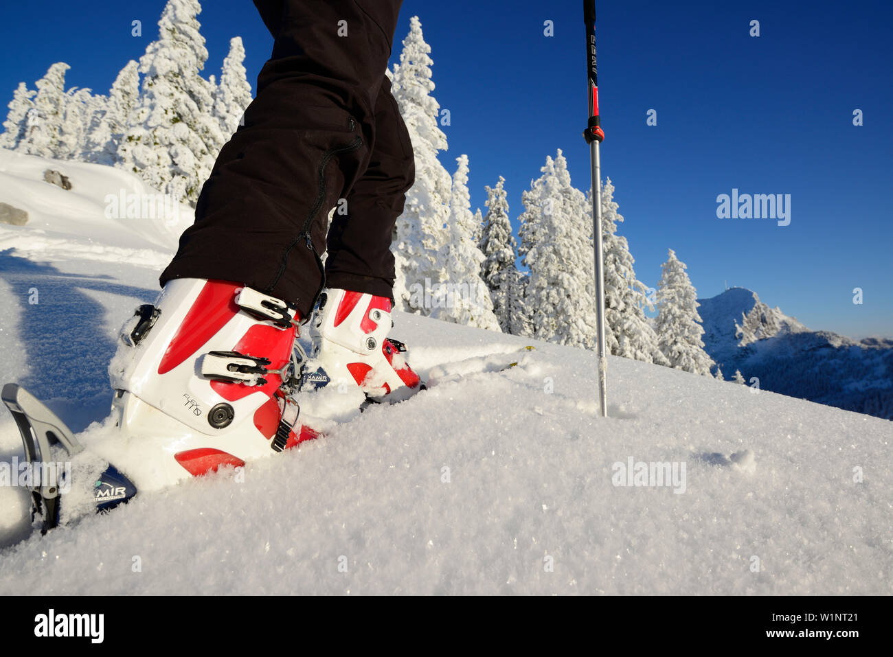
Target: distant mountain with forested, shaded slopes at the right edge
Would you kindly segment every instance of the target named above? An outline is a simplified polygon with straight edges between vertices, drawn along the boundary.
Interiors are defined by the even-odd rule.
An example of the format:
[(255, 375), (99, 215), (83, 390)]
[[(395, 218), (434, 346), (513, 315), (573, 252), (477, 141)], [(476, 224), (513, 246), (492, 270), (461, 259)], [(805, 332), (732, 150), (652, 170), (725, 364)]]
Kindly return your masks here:
[(893, 420), (893, 340), (813, 331), (743, 287), (698, 299), (705, 351), (731, 378)]

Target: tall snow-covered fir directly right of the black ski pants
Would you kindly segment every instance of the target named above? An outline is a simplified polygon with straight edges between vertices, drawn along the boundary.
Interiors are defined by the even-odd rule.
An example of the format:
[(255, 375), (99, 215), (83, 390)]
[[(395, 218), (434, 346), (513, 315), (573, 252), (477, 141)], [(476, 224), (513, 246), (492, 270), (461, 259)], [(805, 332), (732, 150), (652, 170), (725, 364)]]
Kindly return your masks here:
[(423, 315), (431, 311), (425, 303), (429, 295), (424, 290), (447, 283), (440, 257), (448, 238), (452, 195), (452, 179), (437, 157), (438, 151), (447, 150), (447, 136), (438, 126), (440, 105), (431, 96), (434, 62), (430, 52), (419, 17), (413, 16), (409, 34), (403, 40), (400, 62), (390, 77), (394, 98), (413, 143), (415, 182), (406, 192), (404, 212), (396, 220), (391, 250), (396, 260), (397, 308)]

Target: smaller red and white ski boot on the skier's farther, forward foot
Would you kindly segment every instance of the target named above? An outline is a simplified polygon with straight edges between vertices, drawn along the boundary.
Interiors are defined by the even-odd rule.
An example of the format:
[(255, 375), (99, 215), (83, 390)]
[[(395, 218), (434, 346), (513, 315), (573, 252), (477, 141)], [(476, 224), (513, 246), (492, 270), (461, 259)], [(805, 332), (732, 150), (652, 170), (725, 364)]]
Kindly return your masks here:
[(387, 297), (327, 288), (313, 320), (313, 360), (303, 387), (359, 386), (372, 401), (417, 392), (421, 380), (403, 343), (388, 338), (392, 326)]

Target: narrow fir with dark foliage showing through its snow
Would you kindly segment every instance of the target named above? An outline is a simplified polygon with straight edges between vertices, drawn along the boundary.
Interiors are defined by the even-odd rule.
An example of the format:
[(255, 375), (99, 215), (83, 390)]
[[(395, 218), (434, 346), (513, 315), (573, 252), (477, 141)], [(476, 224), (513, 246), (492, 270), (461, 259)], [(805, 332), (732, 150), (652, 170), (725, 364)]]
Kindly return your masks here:
[(519, 295), (520, 274), (515, 265), (517, 243), (508, 215), (505, 178), (500, 176), (496, 187), (485, 189), (488, 210), (480, 237), (480, 249), (484, 254), (480, 273), (490, 290), (499, 326), (508, 333), (512, 330), (512, 313), (517, 309)]

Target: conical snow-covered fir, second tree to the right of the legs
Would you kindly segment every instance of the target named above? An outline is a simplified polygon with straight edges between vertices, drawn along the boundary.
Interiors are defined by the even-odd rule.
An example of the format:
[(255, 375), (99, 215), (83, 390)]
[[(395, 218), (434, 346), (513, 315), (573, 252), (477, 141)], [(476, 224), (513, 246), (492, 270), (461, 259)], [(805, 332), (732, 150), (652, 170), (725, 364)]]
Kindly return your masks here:
[(453, 175), (450, 215), (447, 221), (447, 242), (440, 248), (446, 284), (434, 287), (430, 317), (490, 330), (500, 330), (490, 291), (480, 278), (484, 254), (474, 241), (474, 215), (468, 192), (468, 155), (456, 158)]

